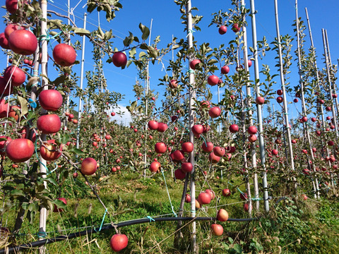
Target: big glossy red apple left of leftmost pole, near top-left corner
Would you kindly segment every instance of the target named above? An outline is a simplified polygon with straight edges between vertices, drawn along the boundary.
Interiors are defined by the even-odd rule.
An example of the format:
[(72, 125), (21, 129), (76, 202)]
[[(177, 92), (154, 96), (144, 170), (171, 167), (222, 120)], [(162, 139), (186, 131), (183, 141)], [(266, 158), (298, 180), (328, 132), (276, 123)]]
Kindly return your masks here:
[(9, 35), (8, 44), (14, 53), (28, 56), (37, 49), (37, 37), (29, 30), (16, 30)]

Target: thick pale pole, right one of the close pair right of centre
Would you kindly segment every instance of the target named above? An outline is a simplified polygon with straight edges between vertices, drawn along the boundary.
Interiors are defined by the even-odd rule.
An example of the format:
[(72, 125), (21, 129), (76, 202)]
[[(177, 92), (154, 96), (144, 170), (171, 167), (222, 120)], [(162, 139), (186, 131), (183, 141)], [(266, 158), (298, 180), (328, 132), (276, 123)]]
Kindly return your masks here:
[[(259, 63), (258, 63), (258, 44), (256, 39), (256, 8), (254, 7), (254, 0), (251, 0), (251, 20), (252, 20), (252, 44), (254, 49), (254, 78), (256, 80), (256, 97), (260, 96), (260, 83), (259, 83)], [(274, 105), (273, 105), (274, 110)], [(265, 211), (268, 212), (268, 190), (267, 190), (267, 175), (266, 175), (266, 159), (265, 159), (265, 143), (263, 141), (263, 107), (261, 104), (256, 104), (256, 111), (258, 117), (258, 127), (259, 127), (259, 149), (260, 149), (260, 160), (261, 167), (263, 167), (263, 200)], [(254, 175), (254, 194), (258, 198), (258, 176)], [(259, 210), (259, 201), (256, 201), (256, 210)]]

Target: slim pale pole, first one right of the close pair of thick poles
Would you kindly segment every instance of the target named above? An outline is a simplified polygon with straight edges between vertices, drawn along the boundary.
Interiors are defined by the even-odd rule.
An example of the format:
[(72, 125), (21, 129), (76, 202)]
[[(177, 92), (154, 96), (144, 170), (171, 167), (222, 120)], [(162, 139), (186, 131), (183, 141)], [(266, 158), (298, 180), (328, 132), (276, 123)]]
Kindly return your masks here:
[[(283, 54), (281, 49), (281, 42), (280, 42), (280, 30), (279, 30), (279, 18), (278, 18), (278, 0), (274, 0), (275, 6), (275, 28), (277, 30), (277, 42), (278, 42), (278, 52), (279, 52), (279, 66), (280, 66), (280, 82), (281, 88), (283, 90), (283, 97), (284, 97), (284, 114), (285, 114), (285, 124), (287, 129), (287, 141), (288, 141), (288, 148), (290, 154), (290, 167), (292, 171), (295, 171), (295, 162), (293, 158), (293, 148), (292, 148), (292, 139), (291, 139), (291, 130), (290, 130), (290, 122), (288, 119), (288, 111), (287, 111), (287, 97), (286, 97), (286, 89), (285, 89), (285, 78), (283, 72)], [(295, 179), (294, 179), (295, 181)], [(297, 188), (297, 182), (295, 181), (295, 188)]]

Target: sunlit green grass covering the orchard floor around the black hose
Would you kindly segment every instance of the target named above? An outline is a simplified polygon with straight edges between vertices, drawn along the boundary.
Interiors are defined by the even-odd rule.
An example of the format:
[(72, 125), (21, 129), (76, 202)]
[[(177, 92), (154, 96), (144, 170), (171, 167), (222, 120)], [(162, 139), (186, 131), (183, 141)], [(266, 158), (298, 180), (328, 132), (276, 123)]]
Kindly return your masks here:
[[(72, 180), (73, 181), (73, 180)], [(77, 179), (76, 181), (81, 181)], [(198, 184), (196, 190), (201, 190)], [(240, 178), (234, 186), (240, 183)], [(75, 183), (73, 182), (73, 187)], [(218, 204), (208, 209), (201, 209), (197, 216), (215, 217), (215, 205), (222, 206), (232, 218), (248, 217), (243, 210), (239, 192), (225, 198), (221, 195), (226, 188), (227, 180), (210, 181), (215, 190)], [(64, 185), (66, 186), (66, 185)], [(143, 179), (136, 173), (124, 172), (114, 174), (100, 182), (98, 191), (102, 202), (107, 206), (110, 215), (105, 217), (105, 224), (124, 222), (131, 219), (156, 217), (167, 214), (173, 216), (172, 207), (161, 174)], [(177, 212), (182, 196), (182, 181), (174, 182), (167, 176), (167, 187), (174, 210)], [(88, 188), (85, 186), (85, 188)], [(206, 186), (202, 188), (206, 189)], [(240, 189), (244, 191), (244, 187)], [(48, 237), (83, 231), (87, 226), (100, 226), (105, 208), (94, 195), (85, 195), (78, 191), (73, 197), (70, 186), (62, 191), (67, 200), (67, 210), (61, 213), (50, 212), (47, 217)], [(271, 202), (271, 212), (257, 222), (222, 222), (224, 234), (210, 234), (213, 222), (197, 222), (197, 241), (200, 253), (339, 253), (339, 205), (334, 200), (283, 200), (277, 205)], [(218, 207), (220, 208), (220, 207)], [(185, 204), (184, 216), (190, 216), (189, 204)], [(259, 212), (258, 214), (262, 214)], [(8, 228), (14, 224), (14, 212), (5, 214), (4, 222)], [(33, 224), (24, 222), (16, 244), (37, 241), (38, 217)], [(181, 244), (174, 247), (174, 232), (177, 222), (157, 222), (137, 224), (120, 228), (122, 234), (129, 237), (129, 245), (121, 253), (189, 253), (191, 244), (191, 224), (184, 223)], [(114, 229), (82, 236), (47, 245), (47, 253), (110, 253), (109, 239), (115, 234)], [(27, 253), (36, 253), (30, 249)]]

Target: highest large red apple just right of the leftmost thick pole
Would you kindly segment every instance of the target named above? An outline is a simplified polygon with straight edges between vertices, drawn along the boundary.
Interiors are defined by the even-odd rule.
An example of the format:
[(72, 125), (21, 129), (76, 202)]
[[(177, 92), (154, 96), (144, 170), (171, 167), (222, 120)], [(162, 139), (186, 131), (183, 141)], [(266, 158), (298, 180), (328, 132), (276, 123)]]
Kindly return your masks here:
[(69, 44), (57, 44), (53, 49), (53, 59), (60, 66), (71, 66), (76, 61), (76, 51)]

